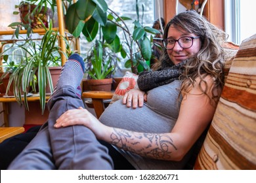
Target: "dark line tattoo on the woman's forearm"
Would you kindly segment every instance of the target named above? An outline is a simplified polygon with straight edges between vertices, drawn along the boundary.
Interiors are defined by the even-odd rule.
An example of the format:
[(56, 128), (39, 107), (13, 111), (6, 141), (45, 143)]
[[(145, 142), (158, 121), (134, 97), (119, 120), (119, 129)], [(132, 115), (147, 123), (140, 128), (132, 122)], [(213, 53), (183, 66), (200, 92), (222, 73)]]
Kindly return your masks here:
[(147, 158), (169, 159), (173, 150), (177, 150), (171, 137), (163, 133), (137, 133), (114, 128), (110, 139), (114, 146)]

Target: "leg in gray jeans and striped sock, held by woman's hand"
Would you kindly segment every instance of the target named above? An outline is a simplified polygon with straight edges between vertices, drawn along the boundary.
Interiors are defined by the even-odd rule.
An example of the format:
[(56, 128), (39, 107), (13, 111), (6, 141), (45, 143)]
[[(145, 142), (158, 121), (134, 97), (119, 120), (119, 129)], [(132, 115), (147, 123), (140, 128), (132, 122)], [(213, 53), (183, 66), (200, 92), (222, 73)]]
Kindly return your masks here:
[(48, 129), (55, 165), (57, 169), (113, 169), (107, 148), (97, 141), (90, 129), (83, 125), (53, 127), (56, 119), (66, 110), (84, 107), (77, 95), (83, 71), (83, 59), (77, 54), (72, 55), (64, 65), (48, 102)]

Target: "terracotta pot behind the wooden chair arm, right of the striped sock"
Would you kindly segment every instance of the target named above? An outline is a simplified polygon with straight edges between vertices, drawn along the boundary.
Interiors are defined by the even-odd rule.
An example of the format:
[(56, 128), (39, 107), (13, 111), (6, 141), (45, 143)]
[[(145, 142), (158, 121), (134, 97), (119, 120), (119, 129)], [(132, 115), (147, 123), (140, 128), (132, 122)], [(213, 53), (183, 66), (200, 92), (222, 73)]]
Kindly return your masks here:
[(102, 80), (87, 80), (87, 84), (90, 88), (90, 90), (93, 91), (105, 91), (105, 92), (111, 92), (112, 87), (112, 78), (106, 78)]

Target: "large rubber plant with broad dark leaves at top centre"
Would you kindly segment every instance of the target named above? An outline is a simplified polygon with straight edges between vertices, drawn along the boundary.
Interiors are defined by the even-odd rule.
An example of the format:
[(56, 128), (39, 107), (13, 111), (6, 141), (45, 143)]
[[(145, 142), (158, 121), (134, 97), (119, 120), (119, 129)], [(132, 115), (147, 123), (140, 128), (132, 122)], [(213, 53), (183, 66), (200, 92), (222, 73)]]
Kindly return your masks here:
[[(153, 39), (152, 35), (148, 38), (148, 33), (154, 35), (160, 32), (152, 27), (142, 26), (142, 21), (139, 21), (139, 8), (136, 10), (137, 20), (133, 22), (134, 29), (130, 30), (125, 22), (131, 21), (131, 18), (118, 16), (108, 8), (104, 0), (78, 0), (67, 10), (66, 26), (75, 37), (83, 33), (87, 41), (93, 41), (98, 31), (101, 31), (106, 42), (115, 44), (118, 52), (126, 59), (125, 67), (137, 73), (139, 63), (149, 69), (145, 62), (152, 56)], [(125, 37), (125, 42), (119, 42), (119, 45), (117, 28), (122, 29)]]

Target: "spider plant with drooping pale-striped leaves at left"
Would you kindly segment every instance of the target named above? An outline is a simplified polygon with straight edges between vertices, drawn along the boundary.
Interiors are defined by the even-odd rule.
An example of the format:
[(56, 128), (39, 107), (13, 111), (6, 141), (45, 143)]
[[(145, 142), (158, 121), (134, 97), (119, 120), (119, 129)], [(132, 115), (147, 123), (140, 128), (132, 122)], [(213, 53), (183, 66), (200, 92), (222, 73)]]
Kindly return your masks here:
[[(66, 38), (60, 37), (58, 32), (53, 30), (52, 22), (49, 24), (49, 29), (44, 28), (45, 34), (41, 38), (41, 41), (28, 39), (24, 44), (13, 44), (12, 47), (16, 46), (16, 48), (23, 50), (22, 59), (16, 67), (9, 67), (5, 73), (5, 75), (7, 75), (7, 73), (11, 72), (7, 91), (13, 83), (16, 101), (22, 104), (22, 97), (24, 96), (24, 105), (27, 109), (29, 109), (27, 101), (28, 93), (30, 90), (36, 92), (36, 86), (38, 86), (42, 114), (45, 110), (47, 87), (49, 87), (50, 93), (53, 92), (53, 80), (50, 68), (58, 66), (58, 73), (60, 73), (61, 69), (60, 54), (62, 52), (60, 51), (60, 46), (58, 46), (59, 39), (64, 39), (66, 45), (69, 46)], [(8, 56), (5, 55), (5, 52), (3, 52), (2, 56), (4, 60), (7, 61)], [(68, 58), (68, 56), (66, 56), (66, 58)], [(2, 78), (4, 78), (5, 75), (3, 75)], [(58, 78), (58, 76), (56, 78)]]

